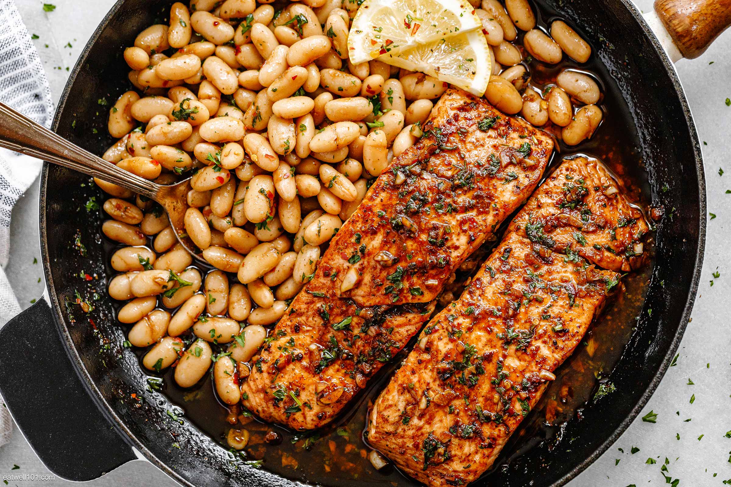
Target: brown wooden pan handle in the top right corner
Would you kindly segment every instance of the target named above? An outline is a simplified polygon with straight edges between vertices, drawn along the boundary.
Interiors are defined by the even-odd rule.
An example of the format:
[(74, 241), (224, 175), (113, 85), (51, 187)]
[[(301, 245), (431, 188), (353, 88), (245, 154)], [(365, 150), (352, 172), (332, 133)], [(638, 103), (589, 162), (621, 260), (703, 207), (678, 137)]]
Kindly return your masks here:
[(731, 0), (655, 0), (655, 12), (688, 59), (704, 53), (731, 25)]

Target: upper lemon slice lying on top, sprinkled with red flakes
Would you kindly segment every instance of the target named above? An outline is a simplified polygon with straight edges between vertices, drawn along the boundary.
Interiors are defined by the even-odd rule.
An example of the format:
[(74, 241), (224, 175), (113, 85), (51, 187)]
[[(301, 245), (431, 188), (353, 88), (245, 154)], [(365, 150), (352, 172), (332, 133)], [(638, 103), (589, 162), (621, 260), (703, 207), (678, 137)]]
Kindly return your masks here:
[(350, 26), (353, 64), (482, 28), (467, 0), (366, 0)]

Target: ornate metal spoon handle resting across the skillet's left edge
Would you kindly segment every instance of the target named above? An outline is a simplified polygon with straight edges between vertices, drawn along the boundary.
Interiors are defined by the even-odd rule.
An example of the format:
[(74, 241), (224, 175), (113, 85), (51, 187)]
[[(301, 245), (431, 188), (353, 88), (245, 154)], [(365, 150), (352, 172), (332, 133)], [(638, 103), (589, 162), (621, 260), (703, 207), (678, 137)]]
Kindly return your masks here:
[(156, 199), (159, 185), (94, 156), (0, 101), (0, 147), (98, 177)]

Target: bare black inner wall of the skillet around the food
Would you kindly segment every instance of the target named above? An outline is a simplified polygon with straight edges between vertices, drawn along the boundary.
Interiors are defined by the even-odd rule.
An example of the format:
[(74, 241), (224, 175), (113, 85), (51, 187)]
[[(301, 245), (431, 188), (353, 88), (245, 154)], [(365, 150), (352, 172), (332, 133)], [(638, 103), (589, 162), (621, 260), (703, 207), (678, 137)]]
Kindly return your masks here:
[[(140, 30), (162, 20), (170, 3), (121, 0), (113, 7), (69, 78), (54, 120), (58, 134), (98, 154), (113, 143), (106, 132), (109, 104), (129, 88), (122, 50), (132, 45)], [(563, 441), (549, 438), (539, 442), (528, 454), (516, 455), (479, 482), (495, 487), (534, 485), (537, 479), (544, 486), (562, 485), (626, 429), (656, 388), (678, 346), (695, 296), (705, 237), (701, 216), (705, 214), (705, 181), (697, 135), (673, 68), (657, 53), (659, 45), (641, 26), (639, 12), (628, 0), (547, 0), (542, 9), (568, 19), (590, 40), (596, 69), (599, 63), (606, 66), (598, 74), (604, 80), (607, 100), (615, 100), (607, 104), (608, 117), (635, 127), (614, 142), (619, 150), (633, 155), (627, 164), (642, 161), (648, 174), (645, 195), (672, 216), (658, 226), (657, 264), (644, 310), (610, 375), (617, 392), (586, 407), (583, 420), (564, 423), (558, 432)], [(172, 421), (170, 413), (177, 416), (178, 412), (175, 406), (162, 394), (148, 390), (137, 356), (123, 348), (124, 330), (116, 324), (106, 294), (108, 266), (99, 230), (101, 213), (85, 209), (92, 196), (103, 202), (101, 191), (88, 177), (47, 164), (41, 194), (43, 261), (61, 334), (71, 344), (72, 358), (80, 360), (86, 380), (98, 389), (100, 404), (108, 408), (129, 441), (186, 485), (289, 485), (265, 469), (233, 460), (219, 446), (219, 439), (211, 440), (186, 418), (182, 424)], [(86, 281), (80, 277), (85, 274), (98, 279)], [(72, 304), (77, 290), (95, 306), (88, 317)], [(325, 483), (338, 485), (338, 479)], [(358, 483), (380, 481), (368, 478)]]

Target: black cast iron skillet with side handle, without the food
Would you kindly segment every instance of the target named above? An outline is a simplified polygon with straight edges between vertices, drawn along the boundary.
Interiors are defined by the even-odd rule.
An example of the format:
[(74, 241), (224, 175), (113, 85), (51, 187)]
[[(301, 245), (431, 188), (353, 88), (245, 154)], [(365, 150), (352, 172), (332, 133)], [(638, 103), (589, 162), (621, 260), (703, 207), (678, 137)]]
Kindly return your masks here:
[[(53, 120), (58, 134), (99, 154), (113, 142), (105, 135), (108, 106), (102, 97), (113, 101), (126, 89), (122, 47), (132, 45), (137, 32), (156, 23), (156, 14), (169, 4), (115, 4), (69, 77)], [(673, 217), (664, 218), (656, 232), (656, 266), (644, 310), (610, 376), (617, 392), (586, 408), (583, 421), (564, 425), (563, 436), (577, 441), (553, 448), (542, 442), (478, 482), (482, 485), (529, 485), (542, 479), (543, 486), (561, 486), (613, 444), (648, 401), (678, 348), (703, 256), (700, 145), (678, 77), (659, 41), (629, 0), (542, 4), (572, 20), (606, 66), (599, 76), (609, 81), (607, 96), (624, 99), (635, 119), (626, 144), (636, 145), (629, 149), (646, 166), (652, 201)], [(42, 299), (0, 331), (0, 390), (46, 466), (61, 478), (90, 480), (145, 457), (185, 486), (295, 485), (232, 461), (186, 418), (170, 421), (167, 412), (173, 406), (161, 394), (145, 391), (146, 376), (135, 354), (122, 346), (124, 330), (116, 325), (106, 294), (99, 217), (84, 209), (91, 196), (103, 201), (101, 191), (86, 176), (50, 164), (43, 168), (41, 185), (41, 251), (48, 287)], [(98, 279), (80, 277), (86, 274)], [(91, 322), (73, 304), (76, 290), (99, 296)]]

